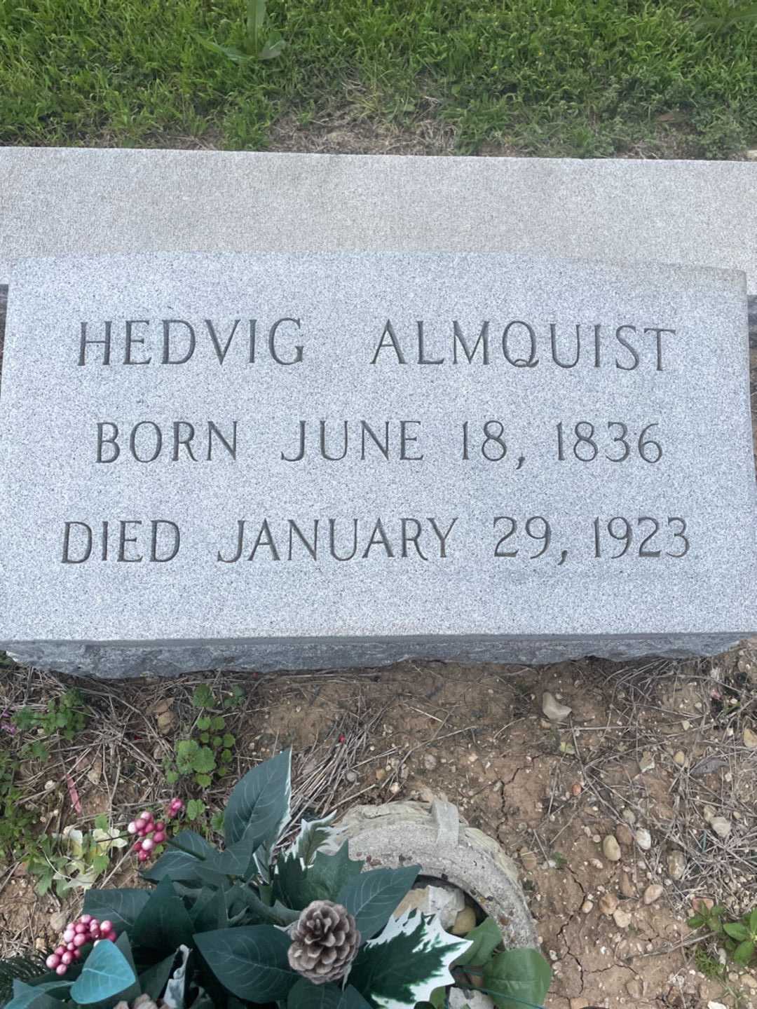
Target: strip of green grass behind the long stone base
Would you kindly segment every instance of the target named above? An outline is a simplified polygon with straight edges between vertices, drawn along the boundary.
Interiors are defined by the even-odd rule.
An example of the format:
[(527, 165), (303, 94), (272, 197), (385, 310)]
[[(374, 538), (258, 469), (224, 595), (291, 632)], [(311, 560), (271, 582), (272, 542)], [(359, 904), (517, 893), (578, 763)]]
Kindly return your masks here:
[(198, 35), (238, 42), (243, 0), (0, 0), (0, 142), (264, 148), (277, 122), (337, 117), (432, 119), (457, 152), (738, 156), (757, 146), (740, 3), (269, 0), (287, 47), (238, 66)]

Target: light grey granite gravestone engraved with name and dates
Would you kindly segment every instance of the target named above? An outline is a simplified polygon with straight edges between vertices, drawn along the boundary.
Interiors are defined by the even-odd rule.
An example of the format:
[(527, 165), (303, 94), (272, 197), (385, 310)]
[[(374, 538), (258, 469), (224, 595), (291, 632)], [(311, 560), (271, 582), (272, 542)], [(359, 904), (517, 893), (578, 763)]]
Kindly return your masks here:
[(757, 629), (736, 271), (19, 260), (0, 411), (24, 662), (546, 662)]

